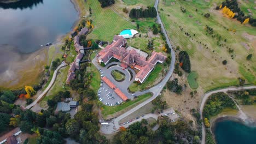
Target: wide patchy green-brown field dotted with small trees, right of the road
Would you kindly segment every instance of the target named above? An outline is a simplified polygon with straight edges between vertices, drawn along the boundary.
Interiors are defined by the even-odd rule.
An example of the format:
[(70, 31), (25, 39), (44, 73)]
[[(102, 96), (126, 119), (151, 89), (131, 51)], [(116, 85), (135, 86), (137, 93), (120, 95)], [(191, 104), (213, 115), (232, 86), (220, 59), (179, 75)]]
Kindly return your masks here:
[[(160, 17), (174, 50), (179, 46), (181, 50), (189, 53), (191, 70), (197, 71), (197, 82), (204, 91), (238, 85), (238, 77), (244, 77), (246, 83), (255, 82), (256, 58), (247, 61), (246, 57), (255, 53), (256, 38), (253, 34), (256, 34), (256, 28), (241, 25), (240, 22), (224, 17), (220, 11), (214, 10), (214, 3), (221, 2), (175, 1), (173, 5), (165, 5), (164, 0), (159, 2), (159, 10), (164, 10), (160, 10)], [(181, 7), (186, 9), (185, 13), (182, 13)], [(210, 13), (211, 16), (207, 19), (203, 16), (205, 13)], [(222, 40), (207, 34), (206, 25), (213, 28), (214, 34), (221, 35)], [(235, 33), (232, 32), (234, 29)], [(185, 33), (189, 33), (190, 37)], [(246, 49), (243, 43), (249, 48)], [(229, 52), (229, 48), (234, 52)], [(222, 64), (224, 60), (228, 61), (226, 65)]]

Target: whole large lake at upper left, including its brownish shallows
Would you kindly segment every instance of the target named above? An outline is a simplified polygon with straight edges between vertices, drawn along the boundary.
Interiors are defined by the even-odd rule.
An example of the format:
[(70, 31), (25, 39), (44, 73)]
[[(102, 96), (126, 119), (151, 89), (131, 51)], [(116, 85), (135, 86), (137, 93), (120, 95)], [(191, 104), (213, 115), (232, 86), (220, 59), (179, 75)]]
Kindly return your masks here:
[(70, 0), (0, 3), (0, 88), (38, 83), (48, 64), (43, 46), (71, 31), (78, 19)]

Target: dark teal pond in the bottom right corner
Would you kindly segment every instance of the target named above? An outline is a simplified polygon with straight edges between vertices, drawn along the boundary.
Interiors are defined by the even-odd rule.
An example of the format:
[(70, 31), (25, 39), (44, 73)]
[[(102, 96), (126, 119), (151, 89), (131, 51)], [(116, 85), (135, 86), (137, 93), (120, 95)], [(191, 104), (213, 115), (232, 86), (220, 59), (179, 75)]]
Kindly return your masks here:
[(216, 123), (214, 135), (217, 144), (255, 144), (256, 128), (248, 127), (242, 123), (224, 120)]

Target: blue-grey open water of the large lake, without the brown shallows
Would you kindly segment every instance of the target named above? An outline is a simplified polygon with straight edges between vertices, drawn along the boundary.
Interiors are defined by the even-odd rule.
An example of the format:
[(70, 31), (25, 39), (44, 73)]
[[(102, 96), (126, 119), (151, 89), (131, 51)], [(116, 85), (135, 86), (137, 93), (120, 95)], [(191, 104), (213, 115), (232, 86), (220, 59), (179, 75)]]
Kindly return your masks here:
[(30, 53), (69, 32), (78, 20), (70, 0), (0, 3), (0, 50)]

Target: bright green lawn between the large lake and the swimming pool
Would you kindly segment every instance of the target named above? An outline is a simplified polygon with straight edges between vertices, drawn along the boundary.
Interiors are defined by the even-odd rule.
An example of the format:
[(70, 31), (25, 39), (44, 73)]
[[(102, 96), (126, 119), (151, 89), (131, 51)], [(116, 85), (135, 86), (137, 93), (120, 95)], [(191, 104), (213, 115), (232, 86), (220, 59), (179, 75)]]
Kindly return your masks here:
[(98, 1), (88, 0), (87, 3), (92, 9), (92, 25), (95, 26), (94, 30), (88, 35), (88, 39), (110, 42), (114, 35), (119, 34), (123, 29), (136, 28), (134, 24), (123, 19), (109, 7), (102, 9)]

